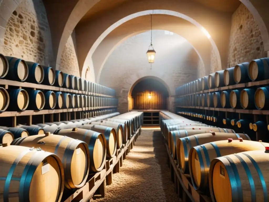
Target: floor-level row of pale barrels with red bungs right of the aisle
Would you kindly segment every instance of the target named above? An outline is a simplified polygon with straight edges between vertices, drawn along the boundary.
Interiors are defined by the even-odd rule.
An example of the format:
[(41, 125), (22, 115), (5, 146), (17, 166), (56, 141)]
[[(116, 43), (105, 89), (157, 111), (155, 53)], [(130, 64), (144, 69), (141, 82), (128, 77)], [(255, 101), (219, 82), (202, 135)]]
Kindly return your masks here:
[(160, 112), (160, 127), (164, 136), (168, 132), (171, 158), (195, 190), (213, 201), (268, 201), (269, 143), (170, 112)]

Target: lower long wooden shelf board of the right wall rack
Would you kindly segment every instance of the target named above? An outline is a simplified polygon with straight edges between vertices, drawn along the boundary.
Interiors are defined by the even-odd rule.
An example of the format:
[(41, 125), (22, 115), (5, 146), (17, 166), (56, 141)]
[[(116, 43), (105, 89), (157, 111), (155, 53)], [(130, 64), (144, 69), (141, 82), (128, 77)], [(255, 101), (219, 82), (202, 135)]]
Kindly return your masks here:
[(232, 108), (214, 108), (214, 107), (196, 107), (196, 106), (176, 106), (179, 108), (188, 108), (188, 109), (204, 109), (212, 111), (221, 111), (221, 112), (235, 112), (243, 114), (260, 114), (260, 115), (269, 115), (269, 110), (255, 110), (255, 109), (232, 109)]

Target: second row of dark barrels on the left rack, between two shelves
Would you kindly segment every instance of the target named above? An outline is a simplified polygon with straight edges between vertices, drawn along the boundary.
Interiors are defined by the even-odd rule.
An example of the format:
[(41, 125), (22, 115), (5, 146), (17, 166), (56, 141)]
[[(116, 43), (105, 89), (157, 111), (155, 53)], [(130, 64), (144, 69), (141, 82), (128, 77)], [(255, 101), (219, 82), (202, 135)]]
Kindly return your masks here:
[(65, 92), (0, 87), (1, 111), (118, 106), (118, 99)]

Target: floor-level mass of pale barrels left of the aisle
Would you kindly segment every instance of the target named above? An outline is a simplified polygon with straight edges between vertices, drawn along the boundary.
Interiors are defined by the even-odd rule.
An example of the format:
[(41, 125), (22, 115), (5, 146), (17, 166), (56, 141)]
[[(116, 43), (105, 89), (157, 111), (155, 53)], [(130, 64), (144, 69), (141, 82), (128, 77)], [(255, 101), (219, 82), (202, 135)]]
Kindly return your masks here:
[[(102, 116), (0, 129), (0, 137), (6, 133), (4, 139), (14, 139), (0, 146), (3, 200), (61, 201), (64, 190), (68, 194), (83, 187), (128, 141), (129, 127), (135, 127), (131, 137), (139, 129), (143, 113), (113, 115), (113, 120)], [(46, 132), (51, 126), (57, 128), (54, 134)]]

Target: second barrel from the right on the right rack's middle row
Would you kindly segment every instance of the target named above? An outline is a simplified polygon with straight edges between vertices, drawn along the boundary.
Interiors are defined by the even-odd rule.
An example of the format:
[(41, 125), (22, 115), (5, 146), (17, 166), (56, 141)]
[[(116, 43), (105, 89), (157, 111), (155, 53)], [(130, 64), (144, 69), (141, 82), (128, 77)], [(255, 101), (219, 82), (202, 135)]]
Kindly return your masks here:
[(243, 89), (240, 93), (240, 105), (243, 109), (254, 109), (255, 90), (252, 88)]

